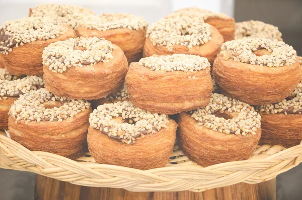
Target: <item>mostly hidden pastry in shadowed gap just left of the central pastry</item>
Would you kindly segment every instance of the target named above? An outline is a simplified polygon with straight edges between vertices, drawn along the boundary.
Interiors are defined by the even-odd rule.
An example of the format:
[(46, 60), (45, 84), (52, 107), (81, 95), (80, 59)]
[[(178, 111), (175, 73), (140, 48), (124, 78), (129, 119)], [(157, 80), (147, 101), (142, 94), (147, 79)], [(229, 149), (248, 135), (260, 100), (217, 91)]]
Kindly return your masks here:
[(115, 102), (123, 102), (123, 101), (129, 101), (129, 93), (127, 89), (127, 84), (124, 82), (123, 87), (118, 90), (115, 93), (111, 93), (105, 98), (100, 98), (97, 100), (92, 100), (90, 101), (92, 109), (96, 109), (98, 106), (103, 105), (103, 104), (110, 104), (110, 103), (115, 103)]

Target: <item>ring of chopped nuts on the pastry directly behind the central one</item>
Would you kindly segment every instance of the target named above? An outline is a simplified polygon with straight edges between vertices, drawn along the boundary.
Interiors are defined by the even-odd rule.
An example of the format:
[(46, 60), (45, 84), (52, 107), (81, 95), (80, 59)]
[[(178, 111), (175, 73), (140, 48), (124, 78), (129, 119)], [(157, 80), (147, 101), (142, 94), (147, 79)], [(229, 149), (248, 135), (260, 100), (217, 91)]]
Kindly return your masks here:
[(210, 41), (212, 29), (202, 19), (187, 16), (162, 19), (152, 24), (146, 37), (153, 45), (166, 46), (172, 51), (173, 45), (183, 45), (188, 48), (203, 45)]

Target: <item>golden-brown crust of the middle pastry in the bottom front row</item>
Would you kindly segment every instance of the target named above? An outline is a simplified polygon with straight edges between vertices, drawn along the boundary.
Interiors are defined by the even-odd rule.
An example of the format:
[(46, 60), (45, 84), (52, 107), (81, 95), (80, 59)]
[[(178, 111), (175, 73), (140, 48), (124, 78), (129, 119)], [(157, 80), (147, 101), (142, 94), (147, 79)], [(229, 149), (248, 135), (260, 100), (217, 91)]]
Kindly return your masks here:
[(173, 152), (177, 124), (169, 119), (167, 128), (135, 139), (134, 144), (118, 142), (92, 127), (88, 129), (88, 148), (101, 164), (112, 164), (141, 170), (165, 166)]

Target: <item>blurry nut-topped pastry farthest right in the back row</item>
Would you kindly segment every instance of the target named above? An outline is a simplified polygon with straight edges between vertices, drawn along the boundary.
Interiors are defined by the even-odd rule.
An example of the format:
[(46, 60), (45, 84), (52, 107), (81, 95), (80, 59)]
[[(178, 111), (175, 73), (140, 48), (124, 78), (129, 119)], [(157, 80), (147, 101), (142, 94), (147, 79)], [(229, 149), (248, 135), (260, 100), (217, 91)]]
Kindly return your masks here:
[(283, 41), (281, 36), (282, 34), (278, 27), (266, 24), (264, 22), (250, 20), (236, 23), (236, 40), (251, 37)]

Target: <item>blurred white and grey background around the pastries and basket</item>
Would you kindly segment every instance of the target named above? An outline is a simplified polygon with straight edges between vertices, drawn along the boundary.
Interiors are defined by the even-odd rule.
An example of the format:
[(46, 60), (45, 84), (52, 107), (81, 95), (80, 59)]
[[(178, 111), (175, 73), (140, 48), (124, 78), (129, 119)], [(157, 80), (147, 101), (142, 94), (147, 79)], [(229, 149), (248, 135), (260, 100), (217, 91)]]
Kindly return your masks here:
[[(151, 24), (186, 7), (222, 12), (237, 22), (259, 20), (279, 27), (285, 43), (302, 55), (302, 0), (0, 0), (0, 25), (28, 16), (29, 8), (53, 3), (78, 5), (102, 13), (131, 13)], [(35, 175), (0, 169), (0, 199), (33, 199)], [(277, 199), (302, 199), (302, 166), (277, 177)]]

